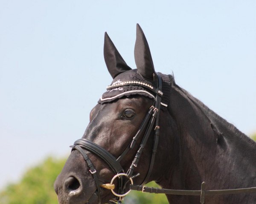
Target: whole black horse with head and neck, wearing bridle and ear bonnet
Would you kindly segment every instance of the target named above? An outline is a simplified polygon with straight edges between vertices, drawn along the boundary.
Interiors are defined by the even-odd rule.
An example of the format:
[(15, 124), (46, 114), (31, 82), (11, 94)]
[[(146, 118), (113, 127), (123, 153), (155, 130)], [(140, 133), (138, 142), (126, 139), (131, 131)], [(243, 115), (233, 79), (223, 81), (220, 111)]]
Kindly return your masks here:
[[(105, 33), (104, 57), (113, 82), (55, 181), (59, 203), (117, 201), (109, 189), (129, 190), (126, 178), (120, 179), (125, 176), (111, 182), (122, 172), (134, 184), (156, 181), (165, 189), (200, 190), (202, 181), (205, 190), (256, 187), (256, 143), (180, 88), (172, 75), (155, 72), (139, 25), (134, 55), (137, 69), (125, 63)], [(166, 196), (175, 204), (200, 201), (194, 195)], [(205, 203), (255, 204), (256, 193), (208, 195)]]

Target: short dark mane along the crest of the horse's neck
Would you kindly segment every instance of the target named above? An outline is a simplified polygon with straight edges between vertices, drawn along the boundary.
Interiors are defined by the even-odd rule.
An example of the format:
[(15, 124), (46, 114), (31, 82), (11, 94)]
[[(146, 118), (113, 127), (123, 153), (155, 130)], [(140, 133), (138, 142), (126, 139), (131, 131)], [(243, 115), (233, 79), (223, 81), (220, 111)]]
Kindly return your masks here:
[(171, 77), (172, 77), (172, 87), (175, 87), (176, 90), (180, 91), (182, 94), (184, 94), (190, 100), (190, 102), (192, 102), (194, 105), (196, 105), (202, 111), (202, 113), (204, 113), (207, 116), (207, 118), (209, 118), (209, 120), (212, 122), (212, 124), (214, 124), (218, 128), (220, 133), (224, 132), (224, 134), (228, 133), (233, 136), (238, 136), (239, 138), (244, 139), (249, 143), (256, 144), (252, 139), (250, 139), (250, 137), (248, 137), (247, 135), (242, 133), (239, 129), (237, 129), (235, 127), (235, 125), (231, 124), (230, 122), (227, 122), (226, 119), (222, 118), (217, 113), (212, 111), (207, 105), (205, 105), (199, 99), (195, 98), (188, 91), (186, 91), (185, 89), (178, 86), (175, 83), (173, 74), (171, 75)]

